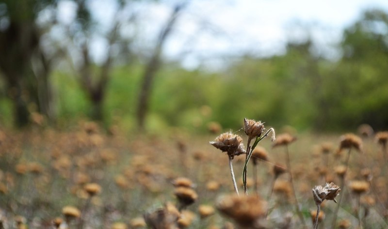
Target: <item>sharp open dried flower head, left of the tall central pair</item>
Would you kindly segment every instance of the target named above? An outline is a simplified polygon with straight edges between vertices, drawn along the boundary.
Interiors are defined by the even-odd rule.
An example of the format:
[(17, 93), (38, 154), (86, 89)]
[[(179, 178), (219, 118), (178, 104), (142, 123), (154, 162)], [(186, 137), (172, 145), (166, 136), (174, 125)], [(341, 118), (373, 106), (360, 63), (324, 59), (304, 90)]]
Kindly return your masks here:
[(209, 143), (222, 152), (226, 152), (232, 159), (234, 156), (246, 153), (242, 143), (242, 137), (230, 131), (221, 134)]

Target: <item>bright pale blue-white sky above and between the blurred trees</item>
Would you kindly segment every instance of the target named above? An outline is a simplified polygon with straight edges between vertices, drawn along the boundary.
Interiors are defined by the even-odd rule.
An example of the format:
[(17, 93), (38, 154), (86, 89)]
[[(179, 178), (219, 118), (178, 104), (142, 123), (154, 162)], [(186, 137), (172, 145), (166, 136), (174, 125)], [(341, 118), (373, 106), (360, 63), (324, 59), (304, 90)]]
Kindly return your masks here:
[[(103, 28), (108, 28), (117, 16), (112, 2), (89, 1)], [(139, 46), (152, 49), (177, 2), (160, 0), (128, 9), (140, 12), (141, 23), (136, 29)], [(318, 54), (335, 59), (339, 56), (335, 45), (341, 40), (343, 29), (354, 23), (363, 10), (371, 8), (388, 12), (388, 0), (191, 0), (179, 15), (163, 53), (187, 68), (196, 68), (207, 63), (217, 65), (226, 57), (246, 53), (281, 54), (287, 41), (311, 37)], [(71, 23), (73, 10), (70, 1), (63, 1), (58, 17)], [(127, 30), (129, 34), (132, 31)], [(98, 37), (92, 42), (97, 62), (104, 56), (105, 43)]]

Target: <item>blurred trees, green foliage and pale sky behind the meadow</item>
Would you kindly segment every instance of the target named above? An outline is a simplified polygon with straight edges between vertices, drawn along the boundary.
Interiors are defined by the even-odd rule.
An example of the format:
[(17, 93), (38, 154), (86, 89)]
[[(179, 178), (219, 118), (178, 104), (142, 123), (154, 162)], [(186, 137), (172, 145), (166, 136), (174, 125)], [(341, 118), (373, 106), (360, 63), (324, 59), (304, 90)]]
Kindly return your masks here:
[(0, 123), (388, 128), (385, 0), (0, 0)]

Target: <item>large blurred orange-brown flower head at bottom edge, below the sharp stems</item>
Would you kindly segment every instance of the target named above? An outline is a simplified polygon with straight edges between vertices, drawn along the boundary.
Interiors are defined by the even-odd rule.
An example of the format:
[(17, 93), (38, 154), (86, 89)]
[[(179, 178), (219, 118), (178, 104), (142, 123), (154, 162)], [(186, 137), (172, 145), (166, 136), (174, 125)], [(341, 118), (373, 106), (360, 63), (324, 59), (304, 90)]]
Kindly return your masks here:
[(259, 228), (260, 219), (267, 213), (267, 203), (257, 195), (226, 196), (217, 201), (216, 208), (246, 228)]

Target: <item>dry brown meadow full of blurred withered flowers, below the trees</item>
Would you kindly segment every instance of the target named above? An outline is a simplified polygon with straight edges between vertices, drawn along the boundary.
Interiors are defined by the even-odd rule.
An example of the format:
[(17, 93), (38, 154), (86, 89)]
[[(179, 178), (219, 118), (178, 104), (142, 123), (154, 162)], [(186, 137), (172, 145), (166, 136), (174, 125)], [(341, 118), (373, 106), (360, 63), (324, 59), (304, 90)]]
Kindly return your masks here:
[[(342, 180), (336, 226), (388, 227), (387, 152), (379, 138), (363, 138), (362, 153), (352, 151), (345, 163), (347, 150), (336, 149), (349, 144), (341, 143), (339, 135), (298, 135), (288, 146), (295, 196), (290, 171), (282, 166), (288, 164), (283, 147), (272, 148), (270, 140), (263, 140), (259, 146), (266, 152), (265, 160), (264, 154), (257, 158), (253, 154), (252, 162), (259, 165), (256, 181), (254, 164), (249, 163), (247, 180), (254, 185), (248, 185), (248, 197), (239, 199), (229, 196), (234, 189), (225, 153), (208, 143), (216, 134), (105, 135), (90, 122), (70, 132), (0, 132), (0, 222), (5, 229), (51, 229), (65, 224), (69, 228), (147, 228), (145, 222), (192, 229), (301, 228), (295, 202), (307, 228), (312, 228), (316, 205), (311, 189)], [(243, 136), (244, 131), (237, 134)], [(350, 145), (361, 148), (360, 143), (355, 140)], [(244, 163), (244, 155), (234, 155), (238, 180)], [(276, 179), (275, 165), (280, 165), (275, 167)], [(255, 201), (260, 205), (244, 207)], [(322, 202), (324, 218), (318, 228), (331, 227), (336, 207), (333, 201)], [(238, 218), (230, 216), (233, 211)], [(241, 222), (244, 217), (249, 222)]]

